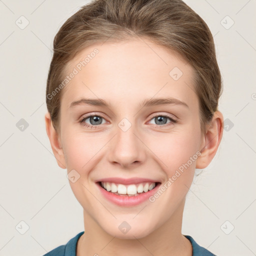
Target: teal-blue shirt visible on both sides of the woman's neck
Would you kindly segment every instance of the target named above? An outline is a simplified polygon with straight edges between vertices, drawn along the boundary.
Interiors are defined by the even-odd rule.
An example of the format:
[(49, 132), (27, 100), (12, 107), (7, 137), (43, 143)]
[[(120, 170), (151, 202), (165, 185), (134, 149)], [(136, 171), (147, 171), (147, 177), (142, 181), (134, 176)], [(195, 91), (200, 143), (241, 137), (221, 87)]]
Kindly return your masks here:
[[(79, 237), (84, 233), (84, 231), (78, 233), (73, 238), (71, 238), (65, 245), (60, 245), (55, 249), (47, 252), (43, 256), (76, 256), (76, 243)], [(195, 240), (190, 235), (184, 235), (193, 247), (193, 256), (216, 256), (205, 248), (199, 246)]]

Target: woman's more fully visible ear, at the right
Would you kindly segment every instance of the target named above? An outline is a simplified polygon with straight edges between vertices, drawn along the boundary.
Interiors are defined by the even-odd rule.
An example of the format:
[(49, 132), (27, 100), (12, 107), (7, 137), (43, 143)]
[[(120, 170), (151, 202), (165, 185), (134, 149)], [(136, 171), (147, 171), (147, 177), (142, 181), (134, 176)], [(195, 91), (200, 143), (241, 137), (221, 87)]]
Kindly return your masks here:
[(196, 160), (195, 168), (203, 169), (213, 159), (223, 134), (223, 115), (215, 111), (211, 122), (206, 126), (206, 134), (202, 140), (201, 155)]

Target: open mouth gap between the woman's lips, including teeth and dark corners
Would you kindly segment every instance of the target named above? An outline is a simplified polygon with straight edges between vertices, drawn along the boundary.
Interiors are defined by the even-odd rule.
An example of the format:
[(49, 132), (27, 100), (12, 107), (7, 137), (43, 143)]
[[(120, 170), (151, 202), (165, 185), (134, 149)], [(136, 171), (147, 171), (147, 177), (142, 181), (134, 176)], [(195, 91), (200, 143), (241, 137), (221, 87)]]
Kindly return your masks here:
[(119, 184), (114, 182), (98, 181), (105, 191), (119, 196), (138, 196), (154, 189), (160, 182), (140, 182), (136, 184)]

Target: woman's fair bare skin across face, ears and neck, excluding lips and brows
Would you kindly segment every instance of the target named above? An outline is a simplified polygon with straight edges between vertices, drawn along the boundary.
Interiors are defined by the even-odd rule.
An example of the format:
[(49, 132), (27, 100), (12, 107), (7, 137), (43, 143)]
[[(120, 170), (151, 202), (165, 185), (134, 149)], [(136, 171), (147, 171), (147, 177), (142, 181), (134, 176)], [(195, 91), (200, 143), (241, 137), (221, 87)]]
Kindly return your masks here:
[[(77, 255), (191, 256), (191, 244), (181, 234), (185, 195), (195, 168), (205, 168), (216, 153), (223, 116), (216, 111), (206, 125), (206, 134), (201, 132), (199, 102), (191, 89), (195, 86), (192, 67), (149, 39), (89, 46), (68, 63), (66, 73), (95, 47), (99, 53), (62, 91), (59, 133), (49, 113), (45, 114), (58, 165), (67, 172), (75, 169), (80, 175), (74, 183), (69, 180), (83, 207), (85, 233), (78, 240)], [(176, 81), (169, 75), (173, 67), (183, 73)], [(188, 107), (139, 106), (144, 99), (167, 96)], [(81, 104), (69, 108), (82, 97), (102, 98), (110, 106)], [(97, 127), (79, 122), (85, 114), (97, 113), (103, 115)], [(152, 113), (167, 114), (176, 122), (166, 119), (159, 124)], [(118, 126), (123, 118), (131, 123), (125, 132)], [(93, 126), (89, 118), (83, 122)], [(107, 201), (95, 184), (96, 179), (115, 176), (152, 178), (164, 184), (197, 151), (201, 151), (200, 156), (154, 202), (120, 207)], [(125, 234), (118, 229), (124, 220), (131, 226)]]

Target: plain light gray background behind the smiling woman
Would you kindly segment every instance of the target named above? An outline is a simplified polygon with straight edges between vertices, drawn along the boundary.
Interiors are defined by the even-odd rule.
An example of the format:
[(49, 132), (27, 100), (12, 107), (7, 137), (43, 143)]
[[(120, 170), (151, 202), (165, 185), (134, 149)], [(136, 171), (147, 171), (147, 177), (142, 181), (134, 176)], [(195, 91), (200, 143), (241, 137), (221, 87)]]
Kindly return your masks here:
[[(0, 0), (0, 255), (39, 256), (83, 230), (82, 207), (52, 154), (44, 113), (54, 35), (86, 2)], [(219, 109), (229, 126), (188, 192), (182, 233), (218, 256), (256, 255), (256, 1), (185, 2), (214, 35), (224, 85)], [(21, 15), (29, 21), (24, 29), (15, 23)], [(226, 15), (234, 21), (229, 29)], [(23, 131), (21, 118), (29, 124)]]

